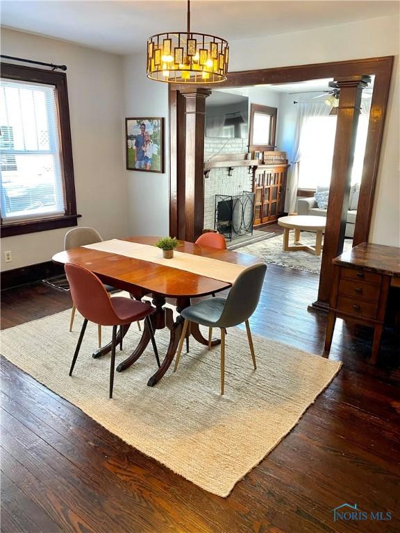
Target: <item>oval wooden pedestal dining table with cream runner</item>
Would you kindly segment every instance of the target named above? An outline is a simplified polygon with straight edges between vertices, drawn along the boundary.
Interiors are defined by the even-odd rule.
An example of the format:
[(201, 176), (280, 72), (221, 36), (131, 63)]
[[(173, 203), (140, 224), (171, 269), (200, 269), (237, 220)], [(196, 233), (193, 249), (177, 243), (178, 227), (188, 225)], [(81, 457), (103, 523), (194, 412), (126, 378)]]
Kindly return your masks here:
[[(213, 297), (229, 289), (241, 271), (260, 262), (258, 257), (229, 250), (217, 250), (198, 246), (192, 242), (178, 241), (172, 259), (163, 260), (162, 250), (154, 245), (159, 237), (128, 237), (111, 239), (91, 245), (71, 248), (53, 255), (58, 264), (74, 263), (92, 271), (99, 279), (116, 289), (128, 291), (131, 298), (142, 300), (151, 296), (153, 313), (150, 315), (154, 332), (167, 328), (169, 346), (158, 370), (151, 375), (147, 384), (153, 387), (169, 369), (183, 330), (181, 311), (191, 305), (192, 298)], [(167, 298), (176, 303), (178, 316), (174, 319), (171, 307), (166, 307)], [(199, 325), (192, 323), (187, 339), (208, 346)], [(117, 334), (117, 343), (125, 337), (130, 325), (123, 326)], [(122, 363), (117, 371), (122, 372), (137, 361), (144, 353), (151, 336), (144, 323), (138, 346)], [(220, 343), (212, 340), (212, 346)], [(92, 357), (101, 357), (111, 350), (111, 341), (94, 351)]]

